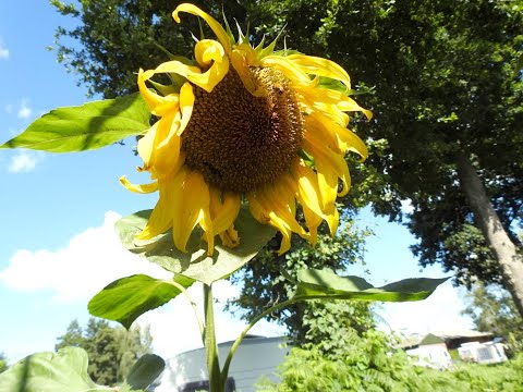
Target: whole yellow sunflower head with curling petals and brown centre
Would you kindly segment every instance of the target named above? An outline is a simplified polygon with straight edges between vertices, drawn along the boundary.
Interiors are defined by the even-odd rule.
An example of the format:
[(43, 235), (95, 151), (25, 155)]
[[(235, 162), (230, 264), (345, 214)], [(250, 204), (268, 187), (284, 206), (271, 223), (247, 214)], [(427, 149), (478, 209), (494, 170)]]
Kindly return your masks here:
[[(199, 225), (209, 255), (216, 235), (234, 247), (243, 200), (256, 220), (281, 232), (280, 254), (290, 248), (292, 233), (315, 243), (324, 220), (333, 235), (336, 198), (350, 187), (344, 155), (367, 156), (346, 128), (345, 112), (372, 115), (346, 96), (346, 72), (326, 59), (277, 52), (275, 42), (252, 47), (241, 32), (235, 40), (228, 25), (193, 4), (174, 10), (178, 23), (181, 12), (202, 17), (217, 40), (198, 40), (194, 60), (172, 57), (138, 72), (139, 91), (158, 118), (138, 142), (138, 171), (148, 171), (154, 182), (120, 181), (132, 192), (158, 191), (159, 200), (137, 237), (150, 240), (172, 228), (174, 245), (185, 252)], [(171, 84), (151, 81), (156, 74)], [(296, 221), (296, 200), (306, 229)]]

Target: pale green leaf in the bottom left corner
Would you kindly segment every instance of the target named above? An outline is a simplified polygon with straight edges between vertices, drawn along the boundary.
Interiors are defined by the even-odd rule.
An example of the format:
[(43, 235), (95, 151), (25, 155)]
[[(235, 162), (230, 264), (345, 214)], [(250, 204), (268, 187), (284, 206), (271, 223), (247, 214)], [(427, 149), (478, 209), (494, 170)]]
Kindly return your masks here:
[(0, 375), (0, 392), (115, 391), (94, 383), (87, 365), (87, 353), (78, 347), (33, 354)]

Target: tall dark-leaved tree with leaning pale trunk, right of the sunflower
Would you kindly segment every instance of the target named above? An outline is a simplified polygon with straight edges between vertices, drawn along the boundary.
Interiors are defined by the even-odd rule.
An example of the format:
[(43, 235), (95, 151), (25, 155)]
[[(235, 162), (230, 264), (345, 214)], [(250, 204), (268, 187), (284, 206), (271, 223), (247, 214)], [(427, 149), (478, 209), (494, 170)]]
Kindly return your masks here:
[[(377, 213), (406, 221), (421, 264), (457, 281), (502, 282), (523, 315), (521, 1), (270, 1), (255, 10), (288, 46), (328, 53), (377, 121), (364, 131), (385, 148), (367, 164)], [(276, 21), (276, 24), (269, 24)], [(367, 183), (363, 183), (368, 188)], [(357, 183), (356, 183), (357, 186)]]

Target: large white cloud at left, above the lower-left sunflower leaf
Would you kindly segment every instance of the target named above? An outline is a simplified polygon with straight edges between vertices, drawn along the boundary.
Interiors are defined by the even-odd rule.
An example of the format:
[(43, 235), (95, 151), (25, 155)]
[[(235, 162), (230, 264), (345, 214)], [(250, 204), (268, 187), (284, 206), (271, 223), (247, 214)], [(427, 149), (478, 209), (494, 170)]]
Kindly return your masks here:
[(0, 281), (17, 291), (49, 291), (61, 302), (87, 302), (107, 284), (134, 273), (167, 274), (160, 267), (125, 250), (114, 233), (115, 212), (104, 224), (74, 236), (58, 250), (16, 252), (0, 271)]

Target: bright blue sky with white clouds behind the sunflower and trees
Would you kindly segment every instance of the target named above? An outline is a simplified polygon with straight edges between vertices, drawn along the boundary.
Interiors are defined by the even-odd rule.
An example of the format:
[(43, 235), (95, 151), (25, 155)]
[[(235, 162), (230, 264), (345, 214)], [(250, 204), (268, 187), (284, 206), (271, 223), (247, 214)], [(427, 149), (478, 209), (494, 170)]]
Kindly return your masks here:
[[(19, 2), (0, 2), (0, 144), (42, 113), (87, 100), (76, 76), (46, 50), (56, 27), (70, 23), (47, 1), (26, 1), (24, 11)], [(119, 216), (151, 208), (156, 200), (156, 195), (131, 194), (118, 182), (122, 174), (146, 181), (135, 173), (141, 162), (132, 147), (133, 140), (72, 155), (0, 150), (0, 352), (10, 362), (52, 350), (72, 319), (87, 320), (88, 299), (112, 280), (144, 271), (162, 274), (125, 253), (112, 232)], [(445, 275), (438, 268), (419, 271), (408, 248), (414, 238), (404, 228), (369, 213), (358, 224), (376, 232), (366, 257), (375, 285)], [(355, 267), (348, 273), (363, 270)], [(228, 283), (218, 291), (222, 301), (238, 293)], [(464, 328), (469, 321), (459, 316), (462, 294), (446, 283), (425, 302), (382, 306), (381, 314), (394, 330)], [(139, 319), (150, 323), (157, 353), (169, 357), (200, 345), (194, 320), (180, 322), (185, 315), (191, 317), (190, 309), (175, 299)], [(219, 340), (232, 339), (241, 328), (230, 315), (218, 316)], [(256, 332), (270, 335), (281, 330), (264, 323)]]

